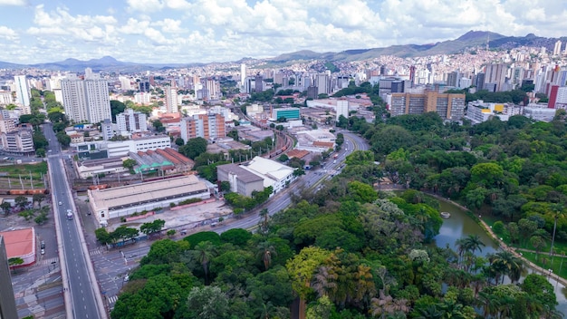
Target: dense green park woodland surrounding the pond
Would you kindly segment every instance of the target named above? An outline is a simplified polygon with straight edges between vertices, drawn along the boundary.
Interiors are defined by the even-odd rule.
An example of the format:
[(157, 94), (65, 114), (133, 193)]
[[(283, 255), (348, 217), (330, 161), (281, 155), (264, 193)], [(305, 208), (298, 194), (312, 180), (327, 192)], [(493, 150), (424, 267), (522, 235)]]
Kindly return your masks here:
[[(511, 244), (561, 247), (564, 117), (476, 126), (436, 113), (351, 117), (348, 128), (371, 150), (352, 152), (340, 175), (303, 190), (255, 234), (157, 241), (111, 317), (560, 318), (553, 286), (542, 275), (521, 279), (525, 266), (513, 254), (476, 256), (484, 246), (476, 236), (459, 239), (456, 251), (428, 245), (442, 219), (425, 192), (492, 218)], [(386, 182), (408, 190), (380, 191)]]

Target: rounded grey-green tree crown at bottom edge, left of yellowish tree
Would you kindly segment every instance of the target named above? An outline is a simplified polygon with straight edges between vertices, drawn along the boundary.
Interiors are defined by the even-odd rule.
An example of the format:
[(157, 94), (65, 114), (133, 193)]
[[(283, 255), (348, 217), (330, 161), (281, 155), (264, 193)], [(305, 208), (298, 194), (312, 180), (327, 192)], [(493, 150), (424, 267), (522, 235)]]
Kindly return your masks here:
[(189, 318), (228, 318), (228, 297), (216, 286), (193, 287), (187, 296)]

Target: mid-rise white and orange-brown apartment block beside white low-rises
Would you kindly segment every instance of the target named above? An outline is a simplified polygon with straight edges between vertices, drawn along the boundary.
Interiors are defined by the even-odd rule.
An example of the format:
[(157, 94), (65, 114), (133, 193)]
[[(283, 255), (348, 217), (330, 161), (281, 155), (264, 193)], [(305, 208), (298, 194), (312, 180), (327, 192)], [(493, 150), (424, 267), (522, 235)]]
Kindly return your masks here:
[(221, 114), (196, 114), (179, 122), (180, 137), (187, 140), (203, 138), (216, 140), (226, 137), (225, 117)]

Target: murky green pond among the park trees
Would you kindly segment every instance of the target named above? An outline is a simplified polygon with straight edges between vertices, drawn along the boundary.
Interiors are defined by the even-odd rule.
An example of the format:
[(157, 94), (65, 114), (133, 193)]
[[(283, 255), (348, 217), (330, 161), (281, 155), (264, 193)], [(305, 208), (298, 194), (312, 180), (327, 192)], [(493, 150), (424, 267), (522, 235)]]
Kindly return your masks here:
[[(443, 219), (443, 226), (439, 229), (439, 235), (434, 238), (434, 243), (437, 247), (447, 247), (447, 245), (456, 250), (455, 242), (456, 239), (461, 237), (466, 237), (468, 235), (478, 235), (482, 242), (485, 244), (482, 252), (476, 253), (479, 256), (486, 256), (489, 253), (495, 253), (499, 249), (498, 245), (490, 236), (485, 233), (485, 230), (476, 224), (473, 218), (466, 215), (466, 212), (459, 208), (458, 206), (439, 200), (440, 211), (446, 211), (451, 214), (450, 218)], [(532, 273), (533, 270), (528, 269), (528, 273)], [(522, 279), (520, 279), (522, 280)], [(557, 281), (552, 278), (548, 279), (549, 282), (555, 287), (555, 295), (557, 296), (557, 310), (561, 311), (562, 314), (567, 314), (567, 289)]]

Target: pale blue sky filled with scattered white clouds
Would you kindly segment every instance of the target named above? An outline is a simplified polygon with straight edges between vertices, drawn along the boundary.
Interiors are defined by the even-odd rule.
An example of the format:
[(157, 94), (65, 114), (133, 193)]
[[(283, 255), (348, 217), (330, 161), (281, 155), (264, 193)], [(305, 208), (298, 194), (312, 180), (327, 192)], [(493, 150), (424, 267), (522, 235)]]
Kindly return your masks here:
[(564, 0), (0, 0), (0, 61), (110, 55), (211, 63), (453, 40), (567, 35)]

